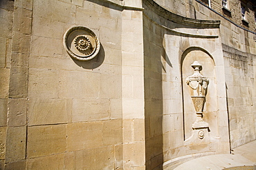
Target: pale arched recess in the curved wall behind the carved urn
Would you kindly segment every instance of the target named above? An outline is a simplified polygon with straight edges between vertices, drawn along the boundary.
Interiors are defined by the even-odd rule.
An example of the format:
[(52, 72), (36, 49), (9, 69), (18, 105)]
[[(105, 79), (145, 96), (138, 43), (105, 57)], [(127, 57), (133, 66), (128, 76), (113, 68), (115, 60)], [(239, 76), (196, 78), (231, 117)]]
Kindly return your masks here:
[(192, 124), (196, 121), (196, 111), (192, 102), (190, 87), (186, 84), (186, 78), (194, 73), (194, 69), (191, 67), (194, 61), (201, 63), (200, 73), (209, 78), (203, 107), (203, 121), (209, 125), (208, 133), (211, 136), (218, 136), (217, 85), (214, 59), (209, 52), (201, 47), (189, 47), (181, 56), (184, 140), (188, 140), (193, 135)]

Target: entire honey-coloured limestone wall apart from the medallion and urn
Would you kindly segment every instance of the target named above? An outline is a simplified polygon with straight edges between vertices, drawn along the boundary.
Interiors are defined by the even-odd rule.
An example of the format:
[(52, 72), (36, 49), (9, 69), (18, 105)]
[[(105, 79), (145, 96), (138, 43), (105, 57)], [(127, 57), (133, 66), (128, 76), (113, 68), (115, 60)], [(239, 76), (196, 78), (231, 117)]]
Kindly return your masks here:
[[(211, 5), (255, 31), (252, 6), (246, 26), (239, 0), (231, 15)], [(6, 0), (0, 23), (0, 169), (163, 169), (256, 138), (255, 34), (198, 1)], [(64, 48), (75, 25), (100, 40), (90, 61)], [(210, 79), (203, 139), (185, 83), (195, 60)]]

